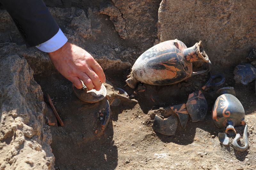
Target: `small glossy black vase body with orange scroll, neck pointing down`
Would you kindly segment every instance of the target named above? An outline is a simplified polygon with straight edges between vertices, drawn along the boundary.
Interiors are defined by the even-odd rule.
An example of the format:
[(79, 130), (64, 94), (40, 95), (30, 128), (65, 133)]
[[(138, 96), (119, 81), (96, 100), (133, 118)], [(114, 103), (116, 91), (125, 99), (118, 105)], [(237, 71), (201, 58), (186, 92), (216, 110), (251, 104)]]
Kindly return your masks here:
[(234, 127), (245, 124), (244, 107), (235, 96), (222, 94), (212, 108), (212, 119), (218, 128), (226, 127), (226, 133), (236, 135)]

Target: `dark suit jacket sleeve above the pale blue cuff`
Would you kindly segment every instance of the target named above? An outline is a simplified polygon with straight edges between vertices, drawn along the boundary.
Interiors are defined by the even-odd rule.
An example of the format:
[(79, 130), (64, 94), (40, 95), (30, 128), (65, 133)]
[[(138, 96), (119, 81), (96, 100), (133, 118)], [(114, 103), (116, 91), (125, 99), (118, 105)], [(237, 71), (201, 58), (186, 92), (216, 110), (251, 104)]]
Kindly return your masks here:
[(27, 47), (51, 39), (59, 26), (42, 0), (0, 0), (11, 15)]

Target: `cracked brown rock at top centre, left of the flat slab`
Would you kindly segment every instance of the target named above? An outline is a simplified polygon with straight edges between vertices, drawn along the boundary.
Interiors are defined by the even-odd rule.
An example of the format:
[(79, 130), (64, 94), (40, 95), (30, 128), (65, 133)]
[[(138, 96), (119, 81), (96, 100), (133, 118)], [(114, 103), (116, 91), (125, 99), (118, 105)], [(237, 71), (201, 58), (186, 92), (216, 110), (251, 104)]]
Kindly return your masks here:
[(112, 0), (101, 5), (100, 13), (110, 16), (121, 38), (145, 42), (155, 37), (159, 3), (160, 0)]

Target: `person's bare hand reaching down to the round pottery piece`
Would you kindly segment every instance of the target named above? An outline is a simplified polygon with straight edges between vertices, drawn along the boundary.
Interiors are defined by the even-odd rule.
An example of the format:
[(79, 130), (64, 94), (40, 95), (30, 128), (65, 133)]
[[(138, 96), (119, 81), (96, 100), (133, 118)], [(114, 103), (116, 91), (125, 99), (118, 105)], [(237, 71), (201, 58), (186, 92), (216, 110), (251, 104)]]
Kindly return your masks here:
[(80, 79), (88, 90), (95, 88), (97, 91), (100, 90), (101, 83), (106, 81), (102, 68), (92, 55), (74, 44), (67, 42), (60, 49), (48, 54), (60, 74), (78, 89), (83, 87)]

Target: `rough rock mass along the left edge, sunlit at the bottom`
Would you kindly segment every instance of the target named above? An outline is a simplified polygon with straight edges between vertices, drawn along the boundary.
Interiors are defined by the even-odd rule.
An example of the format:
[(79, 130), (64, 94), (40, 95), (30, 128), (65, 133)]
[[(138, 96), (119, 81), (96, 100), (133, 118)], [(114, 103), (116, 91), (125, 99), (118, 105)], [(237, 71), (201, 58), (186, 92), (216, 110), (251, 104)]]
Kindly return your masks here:
[(0, 169), (52, 168), (52, 136), (33, 70), (19, 55), (0, 55), (0, 68)]

